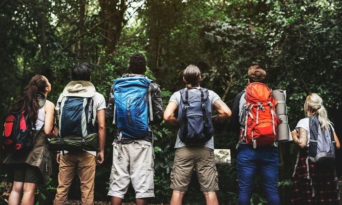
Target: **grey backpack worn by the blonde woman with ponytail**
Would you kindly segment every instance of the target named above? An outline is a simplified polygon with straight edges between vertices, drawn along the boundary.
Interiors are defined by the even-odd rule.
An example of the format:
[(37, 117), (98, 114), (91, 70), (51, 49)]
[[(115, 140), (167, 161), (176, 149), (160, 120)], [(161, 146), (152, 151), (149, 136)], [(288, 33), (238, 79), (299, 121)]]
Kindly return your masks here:
[(321, 129), (318, 115), (309, 116), (310, 143), (308, 148), (309, 159), (314, 163), (330, 163), (335, 159), (336, 141), (329, 125)]

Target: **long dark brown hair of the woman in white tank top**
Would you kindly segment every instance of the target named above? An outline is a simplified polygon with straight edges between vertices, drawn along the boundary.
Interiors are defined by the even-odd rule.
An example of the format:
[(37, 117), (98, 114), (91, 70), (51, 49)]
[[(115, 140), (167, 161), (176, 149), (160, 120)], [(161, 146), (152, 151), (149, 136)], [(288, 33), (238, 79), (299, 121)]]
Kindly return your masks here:
[(32, 126), (36, 128), (36, 121), (38, 117), (38, 92), (45, 92), (47, 83), (43, 75), (35, 75), (30, 80), (30, 83), (25, 88), (21, 98), (19, 98), (9, 110), (9, 114), (21, 113), (23, 110), (28, 114)]

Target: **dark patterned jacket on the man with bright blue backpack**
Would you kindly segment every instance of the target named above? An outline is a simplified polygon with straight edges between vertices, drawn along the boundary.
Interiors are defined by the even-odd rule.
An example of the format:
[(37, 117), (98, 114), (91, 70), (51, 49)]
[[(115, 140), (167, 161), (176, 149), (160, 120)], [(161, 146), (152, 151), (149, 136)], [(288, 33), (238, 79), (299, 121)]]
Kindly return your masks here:
[[(144, 75), (141, 74), (123, 74), (122, 77), (123, 78), (127, 78), (127, 77), (143, 77)], [(164, 115), (164, 108), (163, 108), (163, 102), (162, 102), (162, 98), (161, 98), (161, 91), (159, 88), (159, 85), (154, 83), (152, 81), (152, 83), (150, 84), (150, 92), (151, 92), (151, 101), (152, 101), (152, 112), (153, 112), (153, 121), (150, 122), (150, 129), (153, 131), (152, 126), (151, 125), (156, 125), (159, 124), (163, 121), (163, 115)], [(111, 121), (113, 121), (113, 115), (114, 115), (114, 92), (113, 92), (113, 86), (110, 88), (110, 93), (109, 93), (109, 100), (108, 100), (108, 107), (106, 110), (106, 115), (107, 118)], [(120, 130), (117, 128), (115, 131), (115, 138), (114, 141), (118, 142), (117, 137), (120, 134)], [(152, 133), (149, 133), (149, 136), (146, 136), (143, 138), (146, 141), (151, 142), (152, 141)], [(130, 137), (126, 137), (123, 136), (121, 138), (121, 142), (123, 144), (128, 144), (130, 142), (134, 141), (134, 139), (130, 138)]]

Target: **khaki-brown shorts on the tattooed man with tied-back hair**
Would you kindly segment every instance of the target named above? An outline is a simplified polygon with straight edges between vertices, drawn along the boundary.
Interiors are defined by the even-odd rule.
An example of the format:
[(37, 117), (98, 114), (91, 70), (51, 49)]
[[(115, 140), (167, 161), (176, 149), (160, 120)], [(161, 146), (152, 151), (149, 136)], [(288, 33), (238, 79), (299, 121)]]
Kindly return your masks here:
[(196, 170), (201, 191), (218, 190), (214, 151), (199, 145), (176, 149), (170, 176), (170, 188), (177, 191), (187, 191), (193, 168)]

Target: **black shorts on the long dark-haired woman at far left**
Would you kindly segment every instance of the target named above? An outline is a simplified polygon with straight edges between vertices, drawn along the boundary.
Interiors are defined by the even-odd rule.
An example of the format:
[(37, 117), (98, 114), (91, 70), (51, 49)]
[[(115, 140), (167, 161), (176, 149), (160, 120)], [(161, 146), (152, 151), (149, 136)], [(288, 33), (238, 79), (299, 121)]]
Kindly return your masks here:
[(15, 182), (27, 182), (27, 183), (43, 183), (43, 176), (41, 170), (26, 163), (16, 164), (14, 166), (14, 178)]

